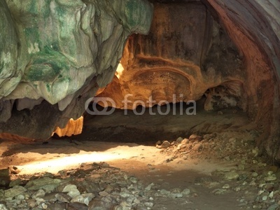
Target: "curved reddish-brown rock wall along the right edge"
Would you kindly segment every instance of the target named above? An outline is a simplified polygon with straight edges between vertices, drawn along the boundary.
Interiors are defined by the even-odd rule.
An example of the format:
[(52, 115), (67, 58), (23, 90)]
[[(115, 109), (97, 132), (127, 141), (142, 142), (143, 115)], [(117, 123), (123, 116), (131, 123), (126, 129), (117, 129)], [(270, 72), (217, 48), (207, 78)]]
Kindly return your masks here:
[(262, 133), (258, 146), (280, 161), (280, 2), (209, 0), (243, 53), (248, 113)]

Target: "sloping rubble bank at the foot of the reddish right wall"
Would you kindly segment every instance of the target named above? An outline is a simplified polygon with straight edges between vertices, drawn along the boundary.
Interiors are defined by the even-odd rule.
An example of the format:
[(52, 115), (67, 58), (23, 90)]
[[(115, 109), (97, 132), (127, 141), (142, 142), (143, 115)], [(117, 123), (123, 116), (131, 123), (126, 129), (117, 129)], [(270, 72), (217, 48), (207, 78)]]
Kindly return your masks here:
[(270, 165), (267, 157), (255, 147), (255, 132), (192, 134), (188, 139), (179, 137), (173, 142), (158, 142), (161, 153), (185, 160), (218, 160), (231, 165), (218, 169), (212, 176), (202, 177), (195, 185), (204, 186), (209, 193), (224, 195), (236, 193), (240, 209), (280, 209), (280, 171)]

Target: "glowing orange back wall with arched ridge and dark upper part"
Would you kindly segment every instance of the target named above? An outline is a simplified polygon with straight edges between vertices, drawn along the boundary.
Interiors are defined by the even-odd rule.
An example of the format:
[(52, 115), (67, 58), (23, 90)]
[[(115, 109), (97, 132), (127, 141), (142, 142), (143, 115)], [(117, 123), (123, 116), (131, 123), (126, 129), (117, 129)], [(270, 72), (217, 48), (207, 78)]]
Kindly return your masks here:
[(110, 97), (120, 109), (134, 109), (139, 101), (153, 106), (207, 94), (205, 109), (210, 110), (218, 87), (234, 96), (225, 107), (246, 111), (244, 57), (207, 7), (197, 2), (154, 6), (150, 33), (130, 36), (113, 83), (98, 96)]

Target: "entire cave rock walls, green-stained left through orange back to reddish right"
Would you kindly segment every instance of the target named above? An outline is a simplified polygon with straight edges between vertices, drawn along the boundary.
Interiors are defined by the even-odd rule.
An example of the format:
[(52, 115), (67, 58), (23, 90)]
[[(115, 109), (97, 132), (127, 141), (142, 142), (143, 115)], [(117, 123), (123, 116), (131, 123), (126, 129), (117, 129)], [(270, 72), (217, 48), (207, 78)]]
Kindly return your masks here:
[(280, 161), (279, 1), (0, 0), (0, 11), (0, 132), (46, 139), (97, 90), (121, 109), (205, 95), (207, 110), (246, 111)]

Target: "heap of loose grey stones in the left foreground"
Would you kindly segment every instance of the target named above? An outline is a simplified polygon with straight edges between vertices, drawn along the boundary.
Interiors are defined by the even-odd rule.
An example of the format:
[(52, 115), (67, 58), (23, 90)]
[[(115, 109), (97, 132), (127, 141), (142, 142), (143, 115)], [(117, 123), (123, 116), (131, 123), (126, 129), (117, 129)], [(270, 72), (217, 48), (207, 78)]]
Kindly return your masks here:
[(144, 185), (106, 163), (81, 165), (58, 174), (36, 174), (10, 181), (0, 190), (0, 209), (151, 209), (155, 197), (186, 197), (190, 190)]

